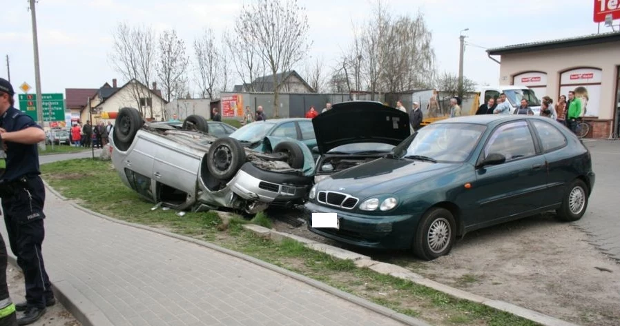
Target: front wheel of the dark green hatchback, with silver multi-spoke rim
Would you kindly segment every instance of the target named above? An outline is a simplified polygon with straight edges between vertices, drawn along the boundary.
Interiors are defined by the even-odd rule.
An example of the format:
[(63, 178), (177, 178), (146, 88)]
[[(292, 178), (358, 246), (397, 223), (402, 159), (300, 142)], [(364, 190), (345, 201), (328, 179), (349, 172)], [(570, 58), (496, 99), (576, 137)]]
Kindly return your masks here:
[(456, 221), (449, 210), (435, 207), (422, 216), (413, 242), (414, 254), (425, 261), (444, 256), (456, 241)]

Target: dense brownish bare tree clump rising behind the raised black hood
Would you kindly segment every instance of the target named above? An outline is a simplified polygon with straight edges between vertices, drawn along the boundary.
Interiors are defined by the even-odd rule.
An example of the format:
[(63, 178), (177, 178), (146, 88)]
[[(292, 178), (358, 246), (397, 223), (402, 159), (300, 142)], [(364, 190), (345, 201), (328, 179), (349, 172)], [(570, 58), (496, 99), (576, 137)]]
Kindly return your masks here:
[(371, 17), (353, 24), (353, 40), (345, 57), (354, 87), (377, 92), (404, 92), (428, 88), (434, 82), (432, 33), (423, 15), (392, 16), (377, 0)]

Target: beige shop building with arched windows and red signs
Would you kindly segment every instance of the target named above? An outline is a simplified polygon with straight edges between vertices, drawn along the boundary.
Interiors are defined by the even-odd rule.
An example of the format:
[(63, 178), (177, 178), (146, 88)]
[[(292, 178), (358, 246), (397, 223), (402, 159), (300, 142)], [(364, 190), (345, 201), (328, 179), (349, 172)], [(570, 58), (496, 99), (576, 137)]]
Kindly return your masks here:
[[(501, 85), (525, 85), (536, 96), (588, 90), (588, 137), (617, 136), (620, 122), (620, 32), (510, 45), (487, 50), (501, 56)], [(495, 59), (494, 59), (495, 60)]]

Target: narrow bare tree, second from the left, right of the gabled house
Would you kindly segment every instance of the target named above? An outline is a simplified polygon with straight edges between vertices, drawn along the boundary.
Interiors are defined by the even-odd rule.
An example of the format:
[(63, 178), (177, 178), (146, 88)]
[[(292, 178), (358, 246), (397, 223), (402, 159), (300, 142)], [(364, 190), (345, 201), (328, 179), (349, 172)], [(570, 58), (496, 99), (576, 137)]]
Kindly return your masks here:
[(177, 36), (176, 30), (164, 30), (159, 36), (157, 79), (162, 84), (166, 101), (184, 96), (188, 63), (185, 42)]

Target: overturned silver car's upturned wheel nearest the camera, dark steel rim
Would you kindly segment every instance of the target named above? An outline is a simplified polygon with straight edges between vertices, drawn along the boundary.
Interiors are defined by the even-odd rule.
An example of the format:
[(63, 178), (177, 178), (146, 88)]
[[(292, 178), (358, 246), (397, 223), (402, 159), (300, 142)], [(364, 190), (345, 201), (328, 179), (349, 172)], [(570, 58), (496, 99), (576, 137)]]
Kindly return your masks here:
[(215, 179), (232, 179), (244, 163), (245, 150), (237, 139), (222, 137), (209, 147), (206, 167)]

